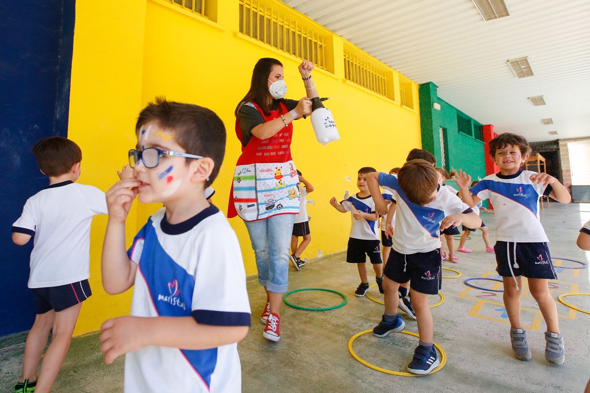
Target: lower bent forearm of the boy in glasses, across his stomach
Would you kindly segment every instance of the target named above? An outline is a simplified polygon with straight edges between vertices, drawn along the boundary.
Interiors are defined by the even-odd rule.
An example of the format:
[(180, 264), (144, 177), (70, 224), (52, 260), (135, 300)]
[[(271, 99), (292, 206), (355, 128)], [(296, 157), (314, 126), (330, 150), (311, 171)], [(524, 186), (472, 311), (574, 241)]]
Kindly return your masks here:
[(120, 316), (100, 328), (100, 351), (104, 362), (145, 346), (209, 349), (241, 341), (248, 326), (212, 326), (197, 323), (192, 316)]

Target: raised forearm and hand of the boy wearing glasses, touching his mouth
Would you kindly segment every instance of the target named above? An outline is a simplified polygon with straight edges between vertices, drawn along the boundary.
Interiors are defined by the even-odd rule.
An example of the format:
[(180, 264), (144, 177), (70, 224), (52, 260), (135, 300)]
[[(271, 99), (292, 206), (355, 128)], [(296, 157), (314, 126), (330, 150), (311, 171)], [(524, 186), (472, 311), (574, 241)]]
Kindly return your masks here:
[(133, 286), (137, 264), (129, 260), (125, 249), (125, 219), (131, 209), (140, 181), (117, 181), (106, 193), (109, 221), (104, 234), (101, 273), (103, 288), (110, 295), (125, 292)]

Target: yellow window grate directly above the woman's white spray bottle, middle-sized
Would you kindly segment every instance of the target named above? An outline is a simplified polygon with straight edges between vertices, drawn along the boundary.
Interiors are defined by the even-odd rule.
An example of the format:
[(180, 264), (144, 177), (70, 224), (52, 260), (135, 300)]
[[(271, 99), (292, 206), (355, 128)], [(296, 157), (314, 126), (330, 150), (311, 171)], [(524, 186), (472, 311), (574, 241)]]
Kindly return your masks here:
[(386, 67), (373, 60), (369, 55), (346, 46), (344, 49), (344, 77), (346, 80), (383, 97), (394, 98), (388, 88), (389, 78), (392, 77), (391, 72), (388, 72)]

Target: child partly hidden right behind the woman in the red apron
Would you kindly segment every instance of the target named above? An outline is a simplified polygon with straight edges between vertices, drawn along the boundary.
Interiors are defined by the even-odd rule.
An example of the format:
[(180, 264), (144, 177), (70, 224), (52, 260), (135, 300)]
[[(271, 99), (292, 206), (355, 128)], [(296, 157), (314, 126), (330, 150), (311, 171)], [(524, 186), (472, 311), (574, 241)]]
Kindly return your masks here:
[[(309, 246), (309, 243), (312, 241), (312, 234), (309, 230), (309, 217), (307, 216), (307, 205), (306, 205), (306, 197), (307, 194), (313, 191), (312, 183), (307, 181), (301, 171), (296, 169), (297, 174), (299, 175), (299, 213), (295, 216), (295, 221), (293, 222), (293, 235), (291, 236), (291, 263), (295, 269), (299, 270), (301, 266), (305, 265), (305, 261), (301, 260), (301, 254)], [(299, 244), (299, 237), (303, 237), (301, 240), (301, 244)]]

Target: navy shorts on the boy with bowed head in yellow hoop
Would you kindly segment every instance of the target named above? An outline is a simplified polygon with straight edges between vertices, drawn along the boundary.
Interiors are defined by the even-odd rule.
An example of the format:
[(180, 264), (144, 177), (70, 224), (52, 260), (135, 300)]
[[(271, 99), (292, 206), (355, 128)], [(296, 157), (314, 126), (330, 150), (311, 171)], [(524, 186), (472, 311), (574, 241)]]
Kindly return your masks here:
[(403, 284), (420, 293), (437, 295), (441, 289), (440, 249), (415, 254), (402, 254), (391, 249), (383, 274), (390, 280)]

